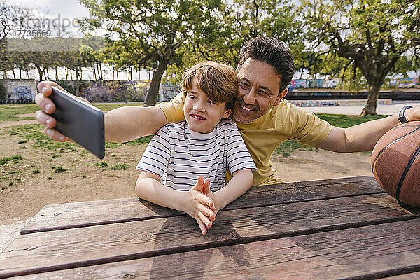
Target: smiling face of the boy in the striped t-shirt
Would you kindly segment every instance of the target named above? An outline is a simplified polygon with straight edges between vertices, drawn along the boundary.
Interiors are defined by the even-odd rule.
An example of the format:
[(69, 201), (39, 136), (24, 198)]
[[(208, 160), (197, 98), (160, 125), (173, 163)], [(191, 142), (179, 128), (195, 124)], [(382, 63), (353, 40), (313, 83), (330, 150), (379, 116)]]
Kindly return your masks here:
[(214, 130), (221, 118), (228, 118), (232, 110), (225, 109), (225, 103), (217, 104), (209, 99), (207, 94), (198, 89), (193, 78), (193, 87), (187, 92), (183, 111), (191, 130), (209, 133)]

